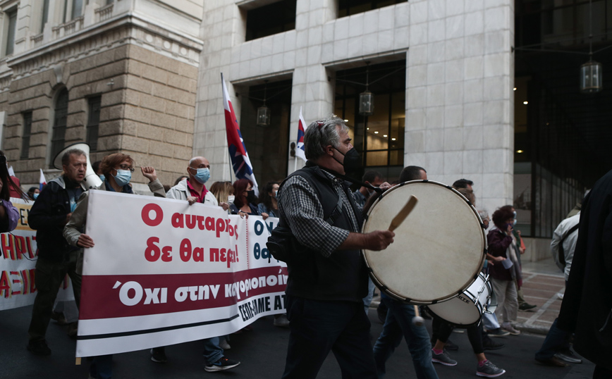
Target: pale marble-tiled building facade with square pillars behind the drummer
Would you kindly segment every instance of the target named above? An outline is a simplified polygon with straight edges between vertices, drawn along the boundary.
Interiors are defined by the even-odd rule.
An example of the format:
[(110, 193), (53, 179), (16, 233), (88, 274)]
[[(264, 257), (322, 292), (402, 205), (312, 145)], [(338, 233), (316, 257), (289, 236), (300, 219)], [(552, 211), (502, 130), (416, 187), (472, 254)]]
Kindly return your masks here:
[[(473, 180), (490, 211), (511, 204), (514, 1), (391, 1), (353, 12), (350, 1), (297, 0), (293, 27), (247, 38), (250, 14), (269, 3), (204, 2), (194, 151), (209, 156), (215, 180), (229, 178), (220, 73), (239, 123), (245, 88), (291, 80), (289, 143), (300, 107), (307, 123), (335, 111), (336, 73), (405, 60), (400, 164), (422, 166), (439, 182)], [(250, 148), (251, 160), (267, 149)], [(293, 158), (286, 159), (291, 172)]]

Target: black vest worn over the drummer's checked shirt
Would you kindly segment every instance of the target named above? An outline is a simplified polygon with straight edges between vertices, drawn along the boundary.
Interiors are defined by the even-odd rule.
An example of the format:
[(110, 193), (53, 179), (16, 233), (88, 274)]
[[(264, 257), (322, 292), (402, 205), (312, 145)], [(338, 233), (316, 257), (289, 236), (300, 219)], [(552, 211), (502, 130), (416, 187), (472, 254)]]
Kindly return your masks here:
[[(323, 207), (323, 219), (329, 218), (338, 204), (338, 194), (329, 177), (310, 161), (288, 178), (293, 175), (300, 175), (310, 183)], [(358, 228), (361, 228), (363, 217), (348, 185), (342, 182), (342, 187), (352, 209), (343, 206), (342, 213), (333, 222), (333, 226), (351, 232), (353, 226), (348, 212), (355, 214)], [(367, 269), (360, 250), (336, 250), (326, 258), (319, 251), (305, 247), (299, 242), (295, 245), (298, 259), (287, 264), (289, 278), (286, 294), (306, 299), (348, 302), (361, 302), (366, 296)]]

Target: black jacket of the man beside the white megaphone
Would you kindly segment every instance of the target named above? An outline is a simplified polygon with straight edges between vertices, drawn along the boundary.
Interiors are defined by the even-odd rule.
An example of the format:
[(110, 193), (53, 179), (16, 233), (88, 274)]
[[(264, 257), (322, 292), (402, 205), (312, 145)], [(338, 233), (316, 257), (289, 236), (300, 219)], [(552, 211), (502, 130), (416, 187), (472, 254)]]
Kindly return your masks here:
[(27, 222), (36, 230), (38, 257), (45, 261), (61, 262), (68, 259), (71, 247), (63, 237), (66, 215), (70, 213), (70, 199), (63, 177), (47, 183), (38, 195)]

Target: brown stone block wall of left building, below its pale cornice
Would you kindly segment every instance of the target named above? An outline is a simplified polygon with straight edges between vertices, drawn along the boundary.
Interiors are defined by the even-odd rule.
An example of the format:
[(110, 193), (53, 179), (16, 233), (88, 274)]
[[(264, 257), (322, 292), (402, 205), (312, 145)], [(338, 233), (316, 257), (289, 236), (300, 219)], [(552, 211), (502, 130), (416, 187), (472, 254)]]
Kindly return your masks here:
[[(7, 111), (4, 150), (23, 187), (37, 184), (39, 168), (47, 180), (59, 174), (48, 168), (54, 158), (49, 156), (54, 99), (62, 87), (69, 97), (66, 146), (85, 141), (87, 99), (101, 95), (92, 162), (121, 151), (137, 167), (154, 166), (164, 184), (172, 184), (185, 170), (192, 156), (196, 66), (135, 44), (118, 44), (46, 70), (23, 66), (13, 68), (16, 77), (0, 93), (0, 108)], [(25, 111), (32, 111), (32, 136), (28, 159), (21, 160)], [(135, 189), (146, 190), (145, 181), (137, 171)]]

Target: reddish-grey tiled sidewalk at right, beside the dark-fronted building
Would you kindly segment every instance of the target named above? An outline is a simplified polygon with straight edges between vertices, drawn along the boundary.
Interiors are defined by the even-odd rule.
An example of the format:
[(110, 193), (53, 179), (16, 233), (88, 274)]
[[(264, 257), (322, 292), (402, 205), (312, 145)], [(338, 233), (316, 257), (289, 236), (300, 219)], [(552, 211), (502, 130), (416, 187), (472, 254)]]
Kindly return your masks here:
[[(561, 309), (559, 292), (565, 291), (563, 273), (552, 258), (522, 264), (522, 294), (529, 304), (537, 305), (530, 311), (518, 311), (516, 328), (527, 333), (546, 335)], [(370, 308), (380, 303), (380, 290)]]

